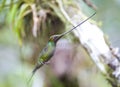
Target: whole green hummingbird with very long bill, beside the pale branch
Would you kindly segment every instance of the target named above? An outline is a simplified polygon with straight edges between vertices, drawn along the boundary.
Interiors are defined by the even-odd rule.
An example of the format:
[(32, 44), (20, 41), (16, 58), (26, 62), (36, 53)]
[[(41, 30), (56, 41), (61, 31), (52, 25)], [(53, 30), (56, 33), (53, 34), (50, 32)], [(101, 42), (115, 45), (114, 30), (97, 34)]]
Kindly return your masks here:
[[(32, 76), (30, 78), (30, 80), (32, 79), (33, 75), (35, 74), (35, 72), (42, 67), (44, 64), (46, 64), (51, 57), (54, 55), (55, 52), (55, 48), (56, 48), (56, 43), (57, 41), (62, 38), (64, 35), (70, 33), (71, 31), (73, 31), (74, 29), (76, 29), (78, 26), (80, 26), (81, 24), (83, 24), (84, 22), (86, 22), (87, 20), (89, 20), (91, 17), (93, 17), (96, 14), (96, 12), (94, 14), (92, 14), (90, 17), (88, 17), (87, 19), (85, 19), (84, 21), (82, 21), (81, 23), (79, 23), (77, 26), (73, 27), (72, 29), (59, 34), (59, 35), (52, 35), (49, 40), (48, 43), (46, 44), (46, 46), (42, 49), (37, 64), (35, 66), (35, 68), (32, 71)], [(29, 80), (29, 81), (30, 81)]]

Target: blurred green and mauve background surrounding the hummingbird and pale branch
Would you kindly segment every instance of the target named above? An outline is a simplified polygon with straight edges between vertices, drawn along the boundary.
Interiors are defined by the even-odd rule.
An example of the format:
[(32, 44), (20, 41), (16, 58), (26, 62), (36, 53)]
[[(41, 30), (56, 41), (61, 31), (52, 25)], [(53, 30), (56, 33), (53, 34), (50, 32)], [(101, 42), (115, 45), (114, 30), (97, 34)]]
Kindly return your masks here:
[[(0, 0), (0, 87), (111, 87), (72, 34), (57, 43), (50, 64), (40, 68), (28, 83), (49, 37), (72, 27), (62, 17), (56, 1)], [(120, 0), (64, 1), (76, 1), (88, 17), (97, 9), (93, 19), (112, 45), (120, 47)], [(38, 25), (34, 10), (39, 12)]]

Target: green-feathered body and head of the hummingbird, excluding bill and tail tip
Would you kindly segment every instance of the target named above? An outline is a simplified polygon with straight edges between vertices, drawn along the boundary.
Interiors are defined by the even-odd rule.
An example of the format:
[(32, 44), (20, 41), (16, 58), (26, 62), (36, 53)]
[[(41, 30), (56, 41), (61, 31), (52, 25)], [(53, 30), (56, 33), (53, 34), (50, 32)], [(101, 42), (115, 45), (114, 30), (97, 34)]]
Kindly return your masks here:
[(37, 69), (44, 65), (53, 56), (56, 47), (56, 42), (59, 40), (58, 37), (58, 35), (53, 35), (50, 37), (45, 48), (43, 48), (43, 50), (39, 54), (37, 65), (34, 68), (33, 73), (35, 73)]

